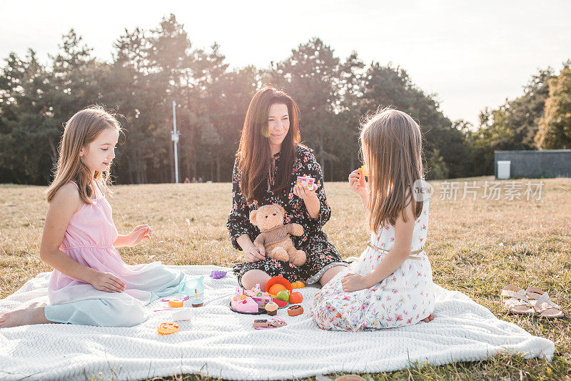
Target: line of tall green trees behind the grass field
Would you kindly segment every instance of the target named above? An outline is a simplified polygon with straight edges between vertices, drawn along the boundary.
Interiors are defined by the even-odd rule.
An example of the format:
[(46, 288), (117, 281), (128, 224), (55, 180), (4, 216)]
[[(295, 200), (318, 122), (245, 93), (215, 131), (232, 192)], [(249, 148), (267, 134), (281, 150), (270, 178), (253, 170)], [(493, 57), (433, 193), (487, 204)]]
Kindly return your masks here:
[(360, 167), (360, 120), (386, 106), (420, 123), (429, 179), (490, 174), (494, 149), (571, 147), (569, 66), (558, 75), (541, 70), (522, 97), (483, 110), (473, 127), (445, 117), (435, 94), (400, 66), (365, 64), (357, 52), (341, 59), (317, 37), (268, 68), (229, 69), (221, 46), (194, 48), (173, 14), (155, 29), (126, 29), (111, 61), (97, 59), (72, 29), (47, 64), (29, 49), (9, 54), (1, 67), (0, 183), (48, 184), (64, 123), (90, 104), (115, 109), (125, 129), (116, 182), (173, 182), (173, 101), (181, 178), (230, 181), (248, 103), (263, 84), (298, 102), (303, 142), (326, 181), (344, 181)]

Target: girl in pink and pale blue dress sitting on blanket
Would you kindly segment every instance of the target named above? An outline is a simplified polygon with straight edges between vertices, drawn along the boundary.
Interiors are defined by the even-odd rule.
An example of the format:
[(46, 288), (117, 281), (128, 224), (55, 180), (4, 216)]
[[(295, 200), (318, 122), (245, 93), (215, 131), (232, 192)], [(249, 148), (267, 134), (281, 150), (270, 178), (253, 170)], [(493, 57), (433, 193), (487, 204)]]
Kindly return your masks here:
[(99, 107), (81, 110), (66, 123), (40, 246), (41, 259), (54, 267), (49, 305), (8, 312), (0, 317), (0, 328), (50, 322), (138, 325), (146, 320), (149, 302), (173, 294), (184, 281), (182, 272), (160, 262), (126, 264), (115, 249), (152, 235), (148, 225), (120, 235), (113, 224), (105, 194), (119, 132), (117, 120)]

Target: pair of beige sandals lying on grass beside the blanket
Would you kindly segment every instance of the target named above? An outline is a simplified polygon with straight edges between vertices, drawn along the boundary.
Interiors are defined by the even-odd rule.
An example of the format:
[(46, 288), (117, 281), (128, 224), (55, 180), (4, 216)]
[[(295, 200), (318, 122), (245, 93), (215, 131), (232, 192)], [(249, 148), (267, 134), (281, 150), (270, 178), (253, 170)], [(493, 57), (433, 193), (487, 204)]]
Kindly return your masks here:
[(563, 309), (552, 302), (547, 295), (537, 287), (529, 287), (523, 290), (512, 284), (505, 286), (500, 295), (502, 305), (508, 312), (515, 315), (539, 314), (547, 319), (561, 319), (565, 316)]

